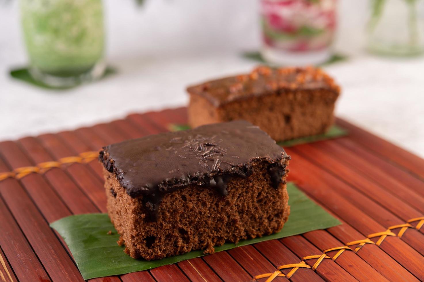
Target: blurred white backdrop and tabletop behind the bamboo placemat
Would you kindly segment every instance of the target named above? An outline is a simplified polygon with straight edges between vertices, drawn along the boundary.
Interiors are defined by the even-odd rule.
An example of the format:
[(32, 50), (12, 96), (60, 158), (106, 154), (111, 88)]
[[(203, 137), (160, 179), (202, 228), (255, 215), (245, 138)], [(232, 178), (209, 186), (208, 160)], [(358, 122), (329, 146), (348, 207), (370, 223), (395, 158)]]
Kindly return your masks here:
[[(0, 1), (0, 140), (92, 125), (187, 103), (185, 87), (243, 73), (260, 47), (258, 0), (105, 0), (107, 61), (118, 73), (67, 91), (16, 81), (26, 62), (18, 1)], [(336, 113), (424, 157), (424, 58), (363, 51), (368, 0), (339, 1), (335, 49), (349, 60), (326, 67), (343, 92)]]

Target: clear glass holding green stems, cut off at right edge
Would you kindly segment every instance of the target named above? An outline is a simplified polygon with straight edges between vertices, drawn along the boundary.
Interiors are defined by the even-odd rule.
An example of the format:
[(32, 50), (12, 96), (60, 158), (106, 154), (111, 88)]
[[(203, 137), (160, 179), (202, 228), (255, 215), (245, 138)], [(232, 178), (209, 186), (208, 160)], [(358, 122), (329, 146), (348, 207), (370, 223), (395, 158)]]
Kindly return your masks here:
[(424, 0), (372, 0), (367, 34), (367, 47), (372, 53), (424, 53)]

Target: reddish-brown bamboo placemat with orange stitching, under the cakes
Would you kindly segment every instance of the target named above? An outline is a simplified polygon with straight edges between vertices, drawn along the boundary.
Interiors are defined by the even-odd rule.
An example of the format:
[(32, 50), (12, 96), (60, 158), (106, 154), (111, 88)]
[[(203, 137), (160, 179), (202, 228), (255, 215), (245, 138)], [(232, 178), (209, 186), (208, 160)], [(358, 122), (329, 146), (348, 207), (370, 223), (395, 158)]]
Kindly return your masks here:
[[(81, 281), (66, 245), (48, 224), (106, 212), (95, 152), (186, 122), (185, 108), (167, 109), (0, 142), (2, 281)], [(344, 120), (337, 123), (349, 136), (297, 145), (287, 153), (289, 180), (342, 225), (91, 280), (424, 280), (424, 160)]]

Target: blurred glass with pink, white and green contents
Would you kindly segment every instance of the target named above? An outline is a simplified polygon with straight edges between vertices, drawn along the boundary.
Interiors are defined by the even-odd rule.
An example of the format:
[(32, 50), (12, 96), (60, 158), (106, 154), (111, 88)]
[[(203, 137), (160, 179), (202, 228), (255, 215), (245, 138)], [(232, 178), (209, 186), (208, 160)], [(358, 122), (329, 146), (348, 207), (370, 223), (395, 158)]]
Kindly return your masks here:
[(320, 64), (331, 56), (336, 0), (261, 0), (262, 56), (283, 65)]

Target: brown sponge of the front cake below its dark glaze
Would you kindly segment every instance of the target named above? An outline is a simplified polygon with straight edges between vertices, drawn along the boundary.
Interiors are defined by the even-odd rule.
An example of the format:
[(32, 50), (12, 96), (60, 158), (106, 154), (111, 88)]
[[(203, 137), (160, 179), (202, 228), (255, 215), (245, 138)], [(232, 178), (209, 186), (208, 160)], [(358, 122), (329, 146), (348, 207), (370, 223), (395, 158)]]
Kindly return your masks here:
[[(287, 159), (282, 159), (284, 165)], [(142, 195), (132, 198), (104, 169), (107, 208), (118, 243), (133, 258), (156, 260), (192, 250), (213, 253), (214, 246), (278, 232), (290, 214), (285, 176), (272, 187), (269, 163), (256, 160), (248, 178), (229, 181), (228, 195), (198, 185), (168, 193), (157, 221), (146, 217)]]

